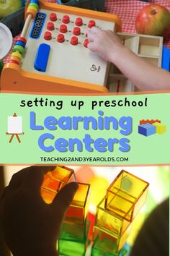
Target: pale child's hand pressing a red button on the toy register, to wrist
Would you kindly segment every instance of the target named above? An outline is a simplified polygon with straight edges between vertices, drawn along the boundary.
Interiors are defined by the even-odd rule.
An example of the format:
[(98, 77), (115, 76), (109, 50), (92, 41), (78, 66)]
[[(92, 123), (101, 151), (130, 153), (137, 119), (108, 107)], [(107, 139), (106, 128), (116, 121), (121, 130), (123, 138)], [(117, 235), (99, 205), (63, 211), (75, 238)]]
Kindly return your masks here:
[(101, 30), (97, 27), (92, 27), (87, 30), (87, 38), (89, 39), (88, 48), (96, 52), (107, 61), (114, 61), (115, 56), (124, 47), (120, 38), (111, 30)]

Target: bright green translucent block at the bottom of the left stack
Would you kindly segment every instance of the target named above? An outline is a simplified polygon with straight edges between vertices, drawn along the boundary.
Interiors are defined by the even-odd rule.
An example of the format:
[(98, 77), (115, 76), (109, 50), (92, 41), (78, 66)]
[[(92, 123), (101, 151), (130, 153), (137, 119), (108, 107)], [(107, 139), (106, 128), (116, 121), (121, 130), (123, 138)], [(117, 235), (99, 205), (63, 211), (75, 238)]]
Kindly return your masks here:
[(58, 253), (59, 255), (67, 256), (84, 256), (86, 253), (86, 247), (88, 245), (90, 223), (86, 223), (86, 237), (84, 241), (73, 241), (68, 239), (58, 239)]

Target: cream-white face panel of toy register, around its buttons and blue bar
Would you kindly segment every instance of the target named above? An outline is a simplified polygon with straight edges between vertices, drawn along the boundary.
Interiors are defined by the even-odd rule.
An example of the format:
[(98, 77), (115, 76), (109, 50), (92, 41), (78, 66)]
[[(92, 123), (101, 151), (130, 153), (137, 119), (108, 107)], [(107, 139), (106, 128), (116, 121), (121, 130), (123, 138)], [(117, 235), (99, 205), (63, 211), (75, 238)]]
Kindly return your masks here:
[[(65, 42), (58, 43), (56, 38), (58, 35), (58, 28), (60, 27), (64, 13), (56, 12), (58, 20), (53, 22), (55, 24), (55, 30), (50, 31), (52, 32), (53, 39), (52, 40), (45, 40), (44, 33), (48, 31), (46, 29), (48, 22), (50, 22), (49, 16), (51, 11), (40, 9), (40, 12), (45, 12), (47, 14), (45, 24), (42, 29), (42, 33), (40, 39), (32, 39), (30, 38), (30, 31), (32, 30), (32, 23), (30, 23), (29, 30), (27, 32), (27, 46), (25, 54), (22, 58), (22, 69), (27, 72), (33, 72), (42, 75), (49, 75), (52, 77), (61, 77), (66, 78), (69, 80), (76, 80), (81, 82), (89, 82), (97, 85), (105, 85), (106, 77), (107, 77), (107, 61), (104, 61), (100, 58), (97, 54), (92, 53), (83, 46), (84, 40), (86, 39), (86, 30), (87, 25), (81, 26), (81, 33), (84, 35), (79, 35), (79, 43), (76, 46), (72, 46), (71, 43), (66, 40), (70, 40), (71, 36), (73, 36), (72, 30), (73, 27), (76, 27), (74, 23), (69, 23), (68, 30), (71, 32), (64, 33), (65, 35)], [(76, 15), (68, 14), (71, 21), (76, 20)], [(88, 15), (88, 14), (87, 14)], [(79, 16), (80, 17), (80, 16)], [(91, 18), (82, 17), (83, 22), (85, 24), (89, 23), (89, 20), (93, 20)], [(104, 30), (115, 30), (115, 23), (114, 22), (106, 22), (103, 20), (95, 20), (96, 25), (101, 27)], [(46, 72), (39, 72), (34, 69), (34, 62), (35, 56), (37, 52), (38, 46), (41, 43), (47, 43), (51, 46), (50, 56), (48, 59), (48, 66)], [(92, 65), (98, 68), (101, 67), (100, 71), (92, 72), (90, 69)]]

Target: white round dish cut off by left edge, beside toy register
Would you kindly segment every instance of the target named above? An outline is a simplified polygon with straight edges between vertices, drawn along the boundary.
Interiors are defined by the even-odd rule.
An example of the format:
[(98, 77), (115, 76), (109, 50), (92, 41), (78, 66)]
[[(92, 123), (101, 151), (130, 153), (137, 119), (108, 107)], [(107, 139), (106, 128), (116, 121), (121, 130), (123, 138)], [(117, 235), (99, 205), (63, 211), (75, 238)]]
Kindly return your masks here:
[(0, 22), (0, 61), (12, 48), (12, 33), (6, 25)]

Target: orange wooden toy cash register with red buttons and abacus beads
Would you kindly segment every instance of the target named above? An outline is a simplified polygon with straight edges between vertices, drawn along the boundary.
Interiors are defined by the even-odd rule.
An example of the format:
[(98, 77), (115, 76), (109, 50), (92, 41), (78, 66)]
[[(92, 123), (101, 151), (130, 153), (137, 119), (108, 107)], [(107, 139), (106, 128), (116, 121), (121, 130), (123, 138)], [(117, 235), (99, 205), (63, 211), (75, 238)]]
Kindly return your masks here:
[(88, 49), (86, 30), (121, 29), (114, 14), (27, 1), (25, 25), (1, 75), (1, 90), (105, 93), (109, 63)]

